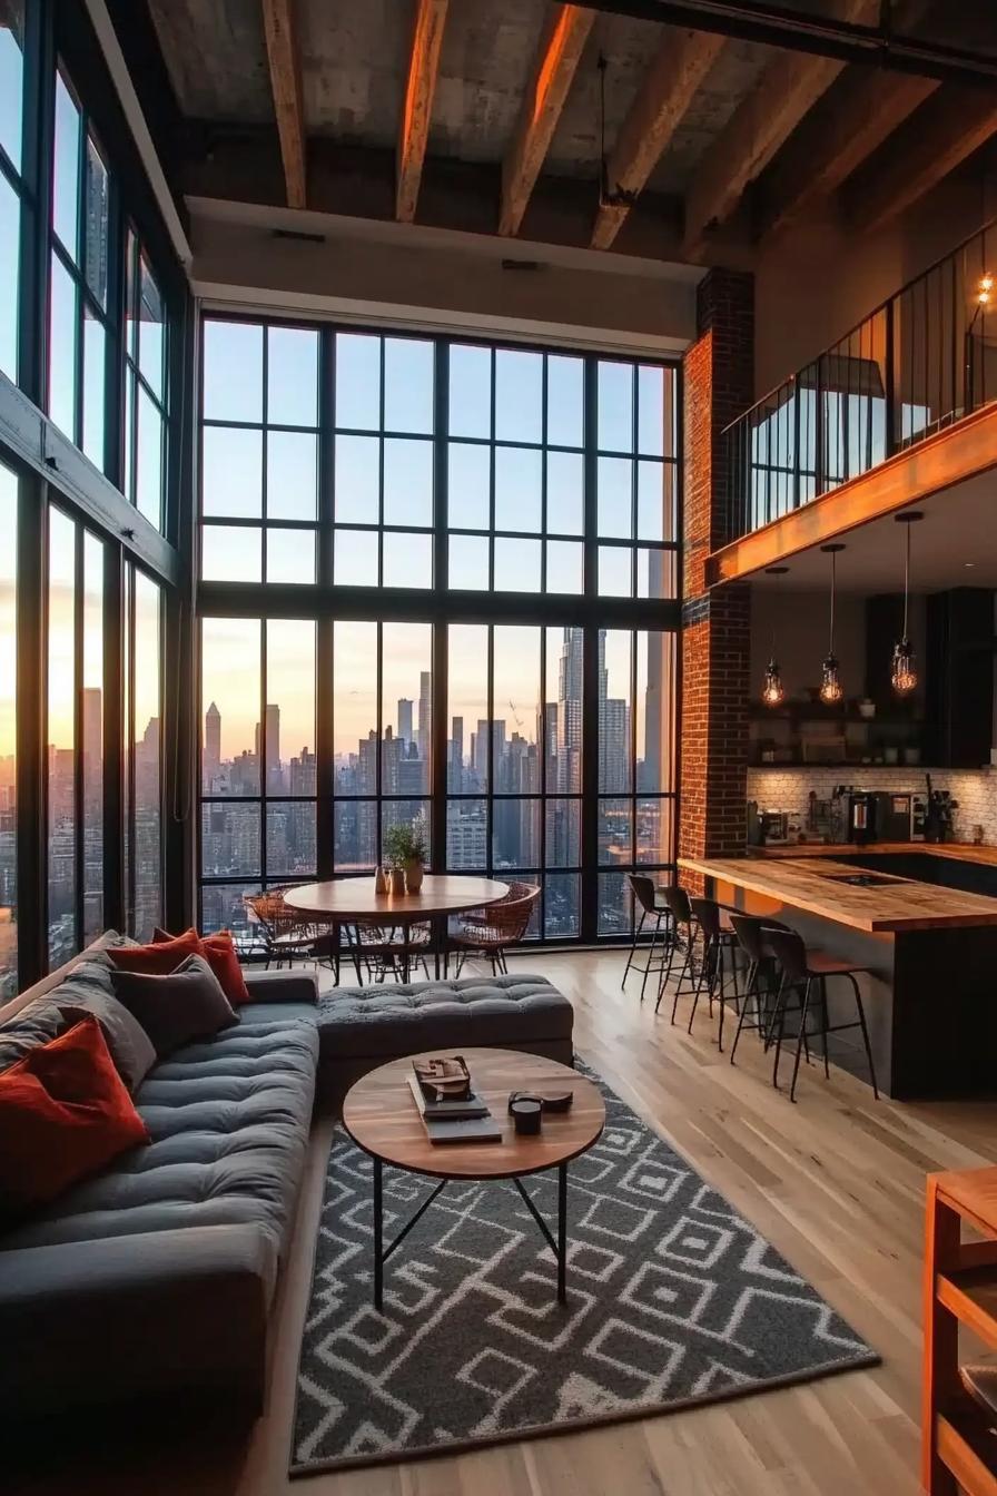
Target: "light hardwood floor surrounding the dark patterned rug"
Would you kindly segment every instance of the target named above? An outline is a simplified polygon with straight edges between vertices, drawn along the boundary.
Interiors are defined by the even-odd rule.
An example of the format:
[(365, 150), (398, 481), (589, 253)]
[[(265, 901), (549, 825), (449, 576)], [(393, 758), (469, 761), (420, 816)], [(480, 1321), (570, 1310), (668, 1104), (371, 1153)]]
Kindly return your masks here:
[[(60, 1496), (916, 1496), (924, 1176), (997, 1159), (991, 1106), (874, 1103), (840, 1071), (768, 1085), (758, 1044), (717, 1055), (667, 1004), (620, 992), (625, 956), (528, 956), (575, 1007), (575, 1047), (877, 1349), (883, 1364), (667, 1417), (451, 1459), (287, 1480), (293, 1382), (330, 1122), (315, 1125), (278, 1313), (268, 1409), (236, 1447), (190, 1424), (163, 1448), (73, 1456)], [(650, 986), (650, 984), (649, 984)], [(688, 1011), (688, 1005), (683, 1004)]]

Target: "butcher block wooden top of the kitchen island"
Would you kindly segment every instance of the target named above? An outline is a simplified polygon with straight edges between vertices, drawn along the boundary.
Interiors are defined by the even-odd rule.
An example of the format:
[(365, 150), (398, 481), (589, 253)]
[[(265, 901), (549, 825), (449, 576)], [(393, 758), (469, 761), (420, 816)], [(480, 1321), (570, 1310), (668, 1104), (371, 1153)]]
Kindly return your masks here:
[[(906, 844), (904, 850), (910, 850), (910, 845)], [(849, 848), (849, 851), (856, 850)], [(862, 851), (870, 850), (873, 848), (862, 848)], [(918, 851), (921, 850), (918, 844)], [(803, 853), (804, 848), (798, 851)], [(804, 910), (837, 925), (851, 925), (856, 931), (900, 934), (997, 925), (997, 899), (984, 898), (981, 893), (960, 893), (957, 889), (939, 889), (910, 878), (879, 887), (856, 887), (839, 881), (834, 874), (854, 877), (859, 869), (836, 862), (833, 856), (810, 856), (809, 850), (804, 856), (779, 859), (680, 857), (679, 866), (686, 872), (698, 872), (761, 893), (786, 908)]]

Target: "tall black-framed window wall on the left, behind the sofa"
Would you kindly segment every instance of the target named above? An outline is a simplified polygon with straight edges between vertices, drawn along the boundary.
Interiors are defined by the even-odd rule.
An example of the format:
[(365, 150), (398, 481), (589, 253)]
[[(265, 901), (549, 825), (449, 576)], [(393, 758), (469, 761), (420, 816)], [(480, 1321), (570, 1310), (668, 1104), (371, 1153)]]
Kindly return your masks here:
[(181, 904), (163, 708), (185, 296), (84, 0), (0, 4), (0, 1001)]

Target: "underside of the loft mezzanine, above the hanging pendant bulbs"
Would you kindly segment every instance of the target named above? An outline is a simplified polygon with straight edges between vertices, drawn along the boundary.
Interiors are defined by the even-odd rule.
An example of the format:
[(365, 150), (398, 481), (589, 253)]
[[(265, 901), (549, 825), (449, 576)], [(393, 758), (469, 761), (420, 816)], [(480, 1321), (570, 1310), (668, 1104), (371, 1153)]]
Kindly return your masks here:
[[(951, 586), (997, 588), (997, 468), (910, 506), (924, 519), (913, 525), (910, 586), (940, 592)], [(903, 588), (904, 536), (892, 515), (851, 530), (840, 539), (837, 586), (842, 592)], [(831, 561), (819, 546), (786, 560), (785, 576), (752, 574), (752, 586), (825, 592)]]

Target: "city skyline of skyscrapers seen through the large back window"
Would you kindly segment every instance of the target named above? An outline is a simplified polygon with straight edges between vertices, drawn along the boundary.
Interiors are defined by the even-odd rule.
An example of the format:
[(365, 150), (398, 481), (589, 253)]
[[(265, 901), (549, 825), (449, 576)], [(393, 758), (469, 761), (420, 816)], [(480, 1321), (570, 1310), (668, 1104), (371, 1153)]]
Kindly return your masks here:
[[(495, 631), (502, 636), (502, 630)], [(498, 875), (544, 868), (546, 934), (568, 936), (578, 929), (581, 862), (581, 754), (583, 754), (583, 655), (581, 628), (550, 630), (547, 684), (537, 681), (525, 694), (531, 705), (510, 699), (504, 708), (499, 688), (519, 675), (520, 685), (535, 664), (540, 673), (538, 630), (508, 630), (514, 642), (532, 639), (529, 651), (492, 646), (493, 705), (487, 715), (487, 691), (475, 693), (474, 709), (450, 681), (444, 754), (445, 865), (451, 871), (484, 871)], [(522, 634), (522, 640), (520, 640)], [(553, 649), (553, 636), (558, 648)], [(471, 633), (471, 639), (477, 634)], [(643, 640), (643, 642), (641, 642)], [(463, 640), (468, 643), (469, 640)], [(501, 639), (501, 643), (508, 643)], [(480, 643), (480, 640), (478, 640)], [(626, 669), (620, 672), (620, 643), (626, 646)], [(635, 670), (641, 694), (634, 715), (629, 694), (613, 696), (620, 673), (631, 681), (629, 651), (643, 657)], [(668, 724), (661, 720), (662, 688), (668, 655), (661, 636), (598, 636), (598, 744), (599, 865), (608, 872), (635, 862), (655, 863), (662, 854), (659, 791), (664, 758), (670, 752)], [(504, 663), (498, 660), (504, 655)], [(417, 663), (420, 655), (413, 657)], [(475, 678), (487, 678), (483, 657), (474, 655)], [(393, 663), (392, 685), (404, 679)], [(378, 859), (380, 838), (392, 824), (414, 824), (429, 844), (435, 812), (430, 772), (433, 690), (429, 670), (416, 669), (408, 693), (383, 702), (381, 732), (369, 723), (348, 747), (332, 755), (332, 836), (336, 874), (371, 869)], [(487, 685), (487, 679), (486, 679)], [(205, 682), (208, 690), (209, 682)], [(523, 693), (520, 693), (522, 696)], [(535, 697), (535, 700), (532, 700)], [(368, 709), (375, 712), (375, 693), (366, 690)], [(483, 711), (478, 715), (477, 708)], [(460, 711), (453, 708), (459, 706)], [(338, 700), (333, 697), (333, 709)], [(356, 711), (356, 703), (354, 703)], [(649, 714), (655, 724), (647, 724)], [(233, 755), (223, 744), (224, 714), (211, 697), (203, 717), (202, 784), (208, 796), (202, 811), (202, 887), (205, 925), (245, 925), (242, 890), (251, 890), (266, 866), (269, 883), (302, 880), (315, 874), (317, 860), (317, 758), (308, 742), (288, 739), (283, 702), (266, 703), (263, 723), (257, 717), (251, 733)], [(245, 714), (242, 717), (245, 721)], [(356, 718), (354, 718), (356, 720)], [(656, 763), (632, 755), (634, 739), (650, 745)], [(265, 781), (265, 782), (262, 782)], [(266, 812), (259, 797), (266, 794)], [(641, 799), (643, 794), (643, 799)], [(291, 799), (305, 796), (305, 799)], [(631, 844), (631, 806), (635, 808), (637, 847)], [(564, 871), (562, 871), (564, 869)], [(215, 881), (218, 880), (218, 881)], [(221, 881), (224, 880), (224, 881)], [(236, 887), (238, 886), (238, 887)], [(622, 886), (605, 881), (604, 926), (622, 917)]]

